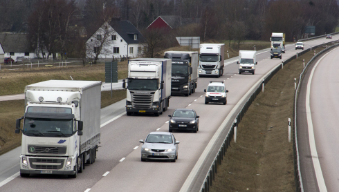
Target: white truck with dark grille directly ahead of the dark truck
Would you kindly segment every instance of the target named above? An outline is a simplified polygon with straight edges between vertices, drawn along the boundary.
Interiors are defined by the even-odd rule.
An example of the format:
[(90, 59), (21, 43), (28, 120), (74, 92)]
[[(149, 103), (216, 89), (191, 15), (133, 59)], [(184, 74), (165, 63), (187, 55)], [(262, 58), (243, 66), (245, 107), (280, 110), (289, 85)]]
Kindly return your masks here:
[(127, 88), (126, 113), (167, 111), (171, 95), (172, 59), (138, 58), (128, 61), (128, 77), (122, 80)]

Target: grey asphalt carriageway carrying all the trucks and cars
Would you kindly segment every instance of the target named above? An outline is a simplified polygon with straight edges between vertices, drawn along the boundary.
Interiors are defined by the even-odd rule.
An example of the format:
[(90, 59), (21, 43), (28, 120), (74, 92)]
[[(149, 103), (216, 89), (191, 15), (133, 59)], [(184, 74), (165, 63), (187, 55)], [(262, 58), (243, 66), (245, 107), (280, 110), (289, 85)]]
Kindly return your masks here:
[[(333, 39), (338, 39), (338, 36), (333, 36)], [(304, 44), (305, 48), (309, 48), (327, 41), (333, 40), (317, 39), (305, 41)], [(76, 179), (58, 175), (33, 175), (28, 178), (14, 176), (15, 179), (6, 184), (0, 180), (0, 191), (89, 191), (89, 189), (91, 192), (180, 191), (205, 146), (239, 99), (269, 70), (279, 65), (282, 60), (295, 55), (296, 52), (300, 50), (295, 50), (293, 44), (286, 46), (286, 53), (283, 54), (282, 59), (269, 59), (268, 49), (258, 51), (255, 75), (238, 75), (236, 58), (228, 59), (225, 61), (227, 66), (222, 77), (199, 78), (196, 93), (189, 97), (172, 97), (168, 111), (160, 117), (127, 116), (124, 100), (114, 104), (113, 107), (109, 106), (111, 107), (109, 109), (104, 108), (101, 113), (101, 147), (95, 164), (86, 166), (84, 173), (80, 173)], [(225, 80), (226, 88), (229, 90), (226, 106), (203, 104), (205, 95), (203, 89), (211, 80)], [(150, 131), (167, 131), (166, 122), (169, 119), (167, 115), (171, 115), (175, 108), (194, 108), (201, 117), (199, 132), (174, 133), (176, 140), (181, 142), (177, 162), (141, 162), (141, 144), (138, 140), (145, 140)], [(0, 162), (3, 162), (6, 154), (1, 155)], [(19, 153), (11, 161), (17, 162), (18, 166), (13, 169), (19, 170)], [(5, 174), (1, 170), (0, 173)], [(1, 179), (4, 178), (2, 175), (0, 175)]]

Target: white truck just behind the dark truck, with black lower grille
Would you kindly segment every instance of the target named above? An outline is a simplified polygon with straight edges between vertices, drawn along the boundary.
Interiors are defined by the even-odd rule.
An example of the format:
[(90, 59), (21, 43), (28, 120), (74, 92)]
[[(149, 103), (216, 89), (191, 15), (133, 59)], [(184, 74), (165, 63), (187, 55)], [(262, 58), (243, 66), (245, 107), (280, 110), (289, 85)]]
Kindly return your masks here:
[(201, 44), (199, 77), (223, 75), (225, 44)]

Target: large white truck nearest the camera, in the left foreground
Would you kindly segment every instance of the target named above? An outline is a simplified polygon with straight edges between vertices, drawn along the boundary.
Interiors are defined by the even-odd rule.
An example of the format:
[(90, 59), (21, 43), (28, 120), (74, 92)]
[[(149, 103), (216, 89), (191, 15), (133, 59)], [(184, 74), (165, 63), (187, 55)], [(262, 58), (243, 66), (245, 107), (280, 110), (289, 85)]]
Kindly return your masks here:
[[(77, 177), (100, 144), (101, 81), (51, 80), (25, 88), (20, 175)], [(21, 120), (24, 119), (21, 129)]]

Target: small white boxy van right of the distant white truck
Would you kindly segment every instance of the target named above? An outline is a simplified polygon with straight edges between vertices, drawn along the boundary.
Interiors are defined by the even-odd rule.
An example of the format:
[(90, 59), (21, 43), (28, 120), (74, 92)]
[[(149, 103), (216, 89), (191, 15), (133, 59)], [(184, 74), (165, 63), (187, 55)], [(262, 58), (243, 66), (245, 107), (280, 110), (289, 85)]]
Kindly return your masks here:
[(239, 74), (252, 73), (255, 74), (255, 65), (257, 65), (256, 59), (257, 51), (255, 50), (239, 50)]

